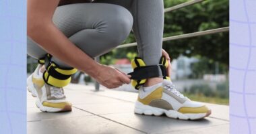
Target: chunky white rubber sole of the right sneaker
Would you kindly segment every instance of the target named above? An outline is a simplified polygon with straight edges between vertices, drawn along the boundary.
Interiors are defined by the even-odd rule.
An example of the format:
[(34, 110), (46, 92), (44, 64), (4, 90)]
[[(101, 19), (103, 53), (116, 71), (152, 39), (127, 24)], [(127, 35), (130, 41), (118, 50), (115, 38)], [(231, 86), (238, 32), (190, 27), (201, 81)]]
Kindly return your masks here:
[(156, 107), (151, 107), (149, 105), (143, 105), (142, 103), (136, 101), (135, 103), (135, 109), (134, 113), (139, 114), (139, 115), (155, 115), (155, 116), (160, 116), (165, 114), (167, 117), (173, 118), (173, 119), (182, 119), (182, 120), (197, 120), (197, 119), (202, 119), (204, 117), (207, 117), (210, 115), (209, 113), (191, 113), (191, 114), (183, 114), (179, 113), (178, 111), (173, 111), (173, 110), (165, 110), (165, 109), (160, 109)]

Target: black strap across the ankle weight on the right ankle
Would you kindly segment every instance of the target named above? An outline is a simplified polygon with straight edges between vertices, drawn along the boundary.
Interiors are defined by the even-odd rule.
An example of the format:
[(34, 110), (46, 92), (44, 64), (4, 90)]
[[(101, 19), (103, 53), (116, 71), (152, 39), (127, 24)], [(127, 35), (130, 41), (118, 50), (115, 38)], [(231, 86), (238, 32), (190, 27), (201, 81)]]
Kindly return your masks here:
[(147, 78), (159, 77), (163, 76), (162, 67), (162, 65), (140, 66), (135, 68), (134, 71), (130, 72), (128, 75), (131, 75), (131, 79), (133, 80), (143, 80)]

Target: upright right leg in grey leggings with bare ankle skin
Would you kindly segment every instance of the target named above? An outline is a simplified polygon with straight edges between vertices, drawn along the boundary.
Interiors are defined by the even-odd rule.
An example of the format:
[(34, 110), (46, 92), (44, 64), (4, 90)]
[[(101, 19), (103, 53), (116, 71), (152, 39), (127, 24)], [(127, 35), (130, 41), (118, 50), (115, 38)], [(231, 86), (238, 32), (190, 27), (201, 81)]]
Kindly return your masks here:
[[(164, 31), (162, 0), (96, 0), (96, 2), (121, 5), (131, 11), (139, 57), (147, 66), (159, 64)], [(144, 86), (152, 86), (159, 82), (162, 82), (162, 78), (148, 78)]]

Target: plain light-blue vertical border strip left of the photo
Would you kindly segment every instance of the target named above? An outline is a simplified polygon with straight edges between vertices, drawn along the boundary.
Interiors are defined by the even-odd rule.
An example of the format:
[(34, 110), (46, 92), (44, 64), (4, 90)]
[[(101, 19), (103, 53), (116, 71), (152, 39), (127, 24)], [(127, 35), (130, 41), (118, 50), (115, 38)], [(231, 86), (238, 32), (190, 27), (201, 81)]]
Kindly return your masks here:
[(0, 133), (26, 133), (26, 1), (0, 0)]

